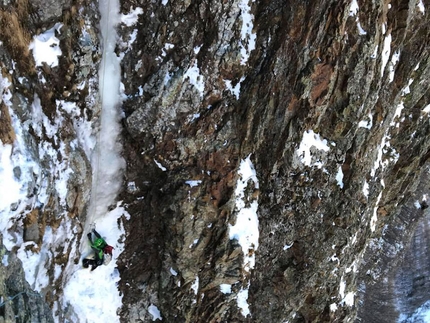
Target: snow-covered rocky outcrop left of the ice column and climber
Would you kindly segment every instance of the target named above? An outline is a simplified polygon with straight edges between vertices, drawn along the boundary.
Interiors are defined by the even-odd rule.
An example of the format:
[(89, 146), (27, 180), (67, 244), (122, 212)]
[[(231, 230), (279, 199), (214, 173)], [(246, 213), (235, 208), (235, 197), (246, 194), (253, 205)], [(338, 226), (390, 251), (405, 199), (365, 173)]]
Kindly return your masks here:
[[(53, 322), (53, 314), (61, 320), (70, 312), (63, 314), (58, 302), (64, 269), (79, 262), (69, 255), (81, 237), (91, 190), (92, 139), (83, 135), (98, 117), (97, 12), (84, 1), (0, 4), (0, 140), (13, 144), (4, 158), (16, 162), (8, 176), (22, 185), (19, 200), (0, 207), (4, 241), (14, 246), (9, 265), (0, 266), (6, 322)], [(42, 41), (55, 38), (58, 63), (37, 62), (30, 44), (41, 34)], [(23, 264), (17, 255), (24, 255)], [(30, 288), (23, 267), (49, 283), (38, 286), (26, 277)]]

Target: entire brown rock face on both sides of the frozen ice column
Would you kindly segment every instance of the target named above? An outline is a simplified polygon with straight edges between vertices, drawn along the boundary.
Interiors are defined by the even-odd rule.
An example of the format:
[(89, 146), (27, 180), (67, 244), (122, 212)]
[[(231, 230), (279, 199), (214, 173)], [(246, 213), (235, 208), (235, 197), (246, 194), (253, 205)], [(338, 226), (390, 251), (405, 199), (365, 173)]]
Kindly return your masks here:
[[(88, 147), (73, 144), (74, 121), (98, 120), (97, 7), (50, 3), (0, 4), (12, 110), (31, 122), (37, 95), (51, 123), (59, 113), (66, 120), (54, 137), (26, 134), (46, 171), (35, 174), (36, 196), (41, 178), (55, 182), (52, 160), (67, 157), (73, 169), (66, 202), (53, 187), (50, 203), (26, 213), (25, 230), (14, 228), (36, 243), (46, 226), (66, 220), (79, 240), (91, 169)], [(428, 2), (121, 6), (127, 171), (120, 199), (131, 215), (118, 261), (123, 322), (155, 319), (154, 306), (164, 322), (394, 322), (430, 299)], [(54, 22), (63, 24), (59, 65), (36, 67), (30, 35)], [(80, 113), (67, 115), (61, 100)], [(13, 142), (0, 109), (0, 138)], [(43, 142), (60, 157), (38, 156)], [(239, 176), (248, 157), (258, 186)], [(230, 238), (238, 180), (245, 206), (258, 203), (259, 243), (249, 250)], [(7, 295), (28, 291), (14, 288)], [(43, 293), (53, 306), (53, 288)], [(45, 313), (42, 304), (34, 313)]]

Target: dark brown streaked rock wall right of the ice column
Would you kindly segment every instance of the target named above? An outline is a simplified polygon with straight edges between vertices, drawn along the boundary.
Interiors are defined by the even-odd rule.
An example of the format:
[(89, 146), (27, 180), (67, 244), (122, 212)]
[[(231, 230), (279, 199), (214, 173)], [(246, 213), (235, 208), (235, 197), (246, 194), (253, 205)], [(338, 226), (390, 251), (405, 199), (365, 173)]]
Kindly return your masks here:
[[(396, 284), (424, 216), (414, 202), (427, 194), (417, 187), (429, 149), (428, 11), (356, 4), (249, 2), (256, 43), (244, 64), (239, 2), (123, 4), (145, 8), (138, 26), (122, 28), (125, 38), (137, 29), (123, 60), (127, 180), (137, 187), (123, 196), (132, 214), (120, 265), (125, 320), (149, 320), (156, 304), (169, 322), (340, 322), (357, 309), (372, 322), (379, 310), (368, 297), (381, 296), (383, 315), (397, 317), (402, 296), (372, 286)], [(196, 62), (203, 93), (186, 77)], [(305, 165), (298, 149), (309, 130), (329, 151), (311, 148)], [(249, 154), (260, 246), (244, 278), (228, 226)], [(248, 281), (245, 318), (236, 297)]]

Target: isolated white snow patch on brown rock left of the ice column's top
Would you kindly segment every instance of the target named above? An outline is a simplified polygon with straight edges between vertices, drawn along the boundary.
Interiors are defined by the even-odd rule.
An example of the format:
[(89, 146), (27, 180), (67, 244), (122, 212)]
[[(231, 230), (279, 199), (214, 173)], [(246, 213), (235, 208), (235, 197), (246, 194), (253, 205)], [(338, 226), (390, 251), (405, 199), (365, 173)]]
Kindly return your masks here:
[(61, 23), (56, 23), (54, 27), (48, 29), (43, 34), (33, 37), (29, 49), (33, 51), (34, 61), (36, 66), (43, 66), (43, 63), (51, 67), (58, 66), (58, 56), (61, 56), (60, 40), (55, 37), (55, 31), (60, 33), (63, 26)]

